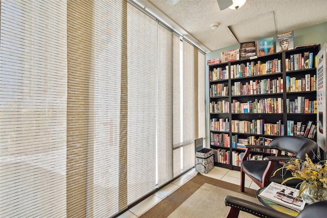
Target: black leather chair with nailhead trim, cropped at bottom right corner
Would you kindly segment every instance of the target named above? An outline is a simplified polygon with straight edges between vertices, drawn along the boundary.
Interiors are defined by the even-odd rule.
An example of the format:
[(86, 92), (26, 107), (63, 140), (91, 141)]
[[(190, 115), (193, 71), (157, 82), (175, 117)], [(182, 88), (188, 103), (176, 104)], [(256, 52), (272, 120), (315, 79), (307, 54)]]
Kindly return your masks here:
[[(255, 204), (244, 199), (236, 198), (227, 195), (225, 197), (225, 205), (230, 207), (229, 213), (226, 218), (237, 218), (240, 211), (251, 213), (258, 217), (271, 217), (271, 218), (291, 218), (294, 216), (286, 213), (279, 212), (275, 209), (265, 207), (259, 204)], [(320, 201), (306, 206), (299, 214), (297, 218), (321, 218), (327, 214), (327, 201)]]

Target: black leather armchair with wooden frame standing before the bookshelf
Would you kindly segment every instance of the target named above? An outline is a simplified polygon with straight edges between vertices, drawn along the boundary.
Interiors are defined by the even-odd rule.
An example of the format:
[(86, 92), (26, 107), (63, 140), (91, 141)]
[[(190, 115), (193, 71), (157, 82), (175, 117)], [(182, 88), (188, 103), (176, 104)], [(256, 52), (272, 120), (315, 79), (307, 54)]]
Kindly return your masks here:
[[(283, 162), (290, 160), (289, 156), (281, 156), (282, 151), (294, 154), (293, 157), (305, 160), (306, 154), (313, 159), (317, 143), (311, 139), (299, 136), (280, 136), (274, 138), (268, 145), (269, 148), (276, 149), (275, 156), (266, 157), (266, 160), (246, 160), (254, 148), (266, 148), (267, 146), (247, 145), (245, 154), (241, 163), (241, 191), (244, 192), (245, 174), (251, 178), (255, 184), (263, 188), (269, 185), (270, 182), (281, 184), (284, 179), (292, 177), (288, 170), (280, 170), (273, 177), (272, 173), (283, 167)], [(301, 180), (293, 179), (285, 183), (290, 187), (295, 187), (301, 183)]]

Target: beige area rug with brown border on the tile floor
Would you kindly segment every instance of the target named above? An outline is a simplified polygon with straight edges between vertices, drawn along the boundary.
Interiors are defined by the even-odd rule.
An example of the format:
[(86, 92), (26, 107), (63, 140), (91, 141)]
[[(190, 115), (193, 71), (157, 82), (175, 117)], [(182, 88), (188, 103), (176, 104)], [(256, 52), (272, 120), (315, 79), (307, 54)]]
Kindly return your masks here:
[[(206, 185), (202, 187), (202, 185), (204, 185), (204, 184), (206, 184)], [(208, 205), (206, 205), (207, 207), (217, 208), (218, 213), (216, 213), (216, 215), (203, 216), (203, 214), (201, 214), (201, 213), (194, 213), (193, 216), (190, 216), (190, 214), (184, 214), (184, 215), (179, 214), (178, 216), (173, 216), (173, 215), (175, 215), (173, 212), (176, 209), (177, 209), (176, 214), (177, 214), (177, 212), (178, 213), (180, 212), (179, 210), (184, 209), (184, 205), (180, 209), (178, 209), (178, 208), (186, 200), (188, 200), (199, 188), (202, 187), (203, 189), (208, 189), (208, 187), (209, 187), (208, 185), (212, 185), (214, 187), (220, 188), (220, 189), (215, 189), (215, 188), (212, 188), (212, 186), (210, 186), (212, 190), (218, 191), (219, 194), (217, 194), (217, 193), (216, 194), (219, 196), (220, 199), (219, 200), (215, 199), (211, 203), (208, 203), (208, 202), (205, 203), (205, 204), (208, 204)], [(225, 189), (224, 192), (221, 189)], [(201, 191), (202, 191), (202, 189), (199, 190), (199, 192), (201, 192)], [(172, 215), (171, 217), (216, 217), (216, 218), (217, 217), (225, 217), (225, 215), (229, 211), (229, 207), (225, 207), (225, 204), (224, 204), (224, 197), (225, 197), (225, 195), (227, 195), (226, 193), (228, 193), (229, 195), (240, 197), (240, 198), (252, 197), (251, 201), (253, 201), (254, 203), (258, 203), (258, 201), (255, 199), (255, 190), (250, 189), (250, 188), (245, 188), (245, 192), (241, 192), (239, 185), (231, 184), (231, 183), (224, 182), (221, 180), (216, 180), (211, 177), (207, 177), (207, 176), (204, 176), (204, 175), (201, 175), (200, 173), (198, 173), (191, 180), (189, 180), (184, 185), (182, 185), (181, 187), (176, 189), (174, 192), (169, 194), (166, 198), (162, 199), (158, 204), (156, 204), (154, 207), (152, 207), (151, 209), (149, 209), (147, 212), (145, 212), (143, 215), (141, 215), (139, 217), (142, 217), (142, 218), (147, 218), (147, 217), (166, 218), (166, 217), (169, 217), (170, 215)], [(196, 199), (194, 199), (194, 198), (196, 198)], [(202, 205), (200, 205), (200, 204), (202, 204), (201, 202), (207, 201), (207, 199), (203, 199), (203, 197), (199, 197), (199, 194), (196, 193), (193, 197), (191, 197), (190, 201), (198, 201), (199, 206), (197, 206), (196, 208), (198, 208), (200, 210), (200, 207), (203, 207)], [(185, 205), (187, 205), (187, 202), (185, 202)], [(221, 211), (222, 209), (225, 211), (224, 214), (223, 214), (223, 211)], [(239, 217), (245, 217), (245, 216), (240, 215)]]

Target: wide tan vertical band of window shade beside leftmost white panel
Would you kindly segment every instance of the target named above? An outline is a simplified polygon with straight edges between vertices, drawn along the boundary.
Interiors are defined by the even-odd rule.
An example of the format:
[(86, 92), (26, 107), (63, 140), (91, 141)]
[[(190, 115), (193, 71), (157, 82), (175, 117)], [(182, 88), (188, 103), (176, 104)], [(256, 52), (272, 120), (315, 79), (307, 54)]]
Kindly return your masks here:
[[(67, 4), (67, 216), (85, 216), (94, 181), (92, 2)], [(90, 105), (90, 108), (89, 108)], [(91, 135), (92, 134), (92, 135)], [(92, 204), (91, 199), (89, 200)], [(92, 210), (91, 210), (92, 211)]]

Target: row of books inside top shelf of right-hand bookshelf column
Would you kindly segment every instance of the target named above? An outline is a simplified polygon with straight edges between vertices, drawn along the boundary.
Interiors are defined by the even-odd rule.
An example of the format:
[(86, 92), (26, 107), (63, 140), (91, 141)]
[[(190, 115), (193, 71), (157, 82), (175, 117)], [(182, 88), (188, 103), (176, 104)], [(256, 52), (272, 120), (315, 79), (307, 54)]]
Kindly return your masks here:
[(302, 69), (313, 68), (313, 53), (304, 52), (290, 55), (290, 58), (285, 59), (286, 71), (297, 71)]

